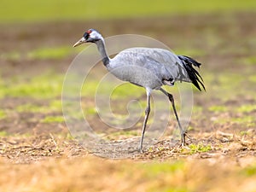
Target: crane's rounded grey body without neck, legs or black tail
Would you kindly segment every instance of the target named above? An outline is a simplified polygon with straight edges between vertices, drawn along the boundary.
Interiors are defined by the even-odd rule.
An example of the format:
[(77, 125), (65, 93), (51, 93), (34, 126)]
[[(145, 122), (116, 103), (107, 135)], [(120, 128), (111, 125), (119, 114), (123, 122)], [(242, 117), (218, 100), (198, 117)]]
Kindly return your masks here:
[(164, 80), (190, 82), (182, 61), (167, 49), (125, 49), (111, 59), (108, 70), (121, 80), (151, 89), (159, 89)]

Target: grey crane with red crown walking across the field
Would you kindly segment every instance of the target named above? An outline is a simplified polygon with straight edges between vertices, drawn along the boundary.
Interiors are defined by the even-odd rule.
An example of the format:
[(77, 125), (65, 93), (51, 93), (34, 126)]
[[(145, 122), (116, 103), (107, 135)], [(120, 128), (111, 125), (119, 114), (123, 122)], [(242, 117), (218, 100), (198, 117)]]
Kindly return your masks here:
[(195, 84), (199, 90), (201, 90), (201, 87), (205, 90), (201, 75), (193, 67), (200, 67), (201, 63), (189, 56), (175, 55), (167, 49), (139, 47), (125, 49), (111, 59), (106, 52), (102, 35), (94, 29), (84, 32), (83, 38), (73, 46), (75, 47), (83, 43), (96, 44), (102, 56), (103, 64), (118, 79), (131, 82), (131, 84), (137, 84), (146, 89), (147, 108), (145, 110), (140, 150), (143, 151), (143, 137), (150, 113), (150, 94), (152, 90), (160, 90), (172, 102), (172, 108), (182, 137), (182, 144), (184, 145), (186, 131), (180, 125), (173, 96), (166, 92), (166, 90), (163, 90), (161, 86), (173, 85), (176, 81), (184, 81)]

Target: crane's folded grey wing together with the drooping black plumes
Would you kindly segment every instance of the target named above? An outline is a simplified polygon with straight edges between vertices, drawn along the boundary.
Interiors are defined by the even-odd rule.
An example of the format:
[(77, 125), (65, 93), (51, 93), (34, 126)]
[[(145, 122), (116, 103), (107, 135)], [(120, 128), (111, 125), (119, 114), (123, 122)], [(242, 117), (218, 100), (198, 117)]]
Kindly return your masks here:
[(157, 76), (163, 84), (172, 85), (178, 80), (192, 82), (199, 90), (201, 88), (197, 82), (203, 86), (198, 79), (201, 76), (191, 65), (199, 67), (200, 63), (190, 57), (175, 55), (167, 49), (125, 49), (115, 56), (114, 61), (116, 61), (115, 65), (135, 65), (146, 68)]

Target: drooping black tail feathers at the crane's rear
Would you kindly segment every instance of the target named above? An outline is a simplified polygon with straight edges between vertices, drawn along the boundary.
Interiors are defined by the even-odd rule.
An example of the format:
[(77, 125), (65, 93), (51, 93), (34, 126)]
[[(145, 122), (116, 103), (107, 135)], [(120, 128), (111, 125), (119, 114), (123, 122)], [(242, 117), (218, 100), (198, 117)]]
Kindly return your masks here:
[[(201, 75), (193, 67), (193, 66), (200, 67), (201, 63), (195, 61), (189, 56), (185, 56), (185, 55), (177, 55), (177, 56), (181, 61), (183, 61), (183, 65), (187, 73), (189, 74), (189, 79), (191, 80), (192, 84), (195, 84), (195, 87), (198, 90), (201, 90), (201, 86), (204, 90), (206, 90), (205, 85), (203, 84), (204, 81), (201, 78)], [(201, 84), (201, 86), (199, 84)]]

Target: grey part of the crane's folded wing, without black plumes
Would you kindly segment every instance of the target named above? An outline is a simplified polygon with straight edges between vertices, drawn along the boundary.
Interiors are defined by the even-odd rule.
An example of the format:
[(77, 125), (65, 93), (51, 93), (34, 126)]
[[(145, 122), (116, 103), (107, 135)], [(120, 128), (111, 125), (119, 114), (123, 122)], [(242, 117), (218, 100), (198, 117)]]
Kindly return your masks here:
[(160, 79), (191, 81), (182, 61), (166, 49), (125, 49), (115, 56), (115, 60), (119, 61), (117, 65), (137, 65), (152, 70)]

